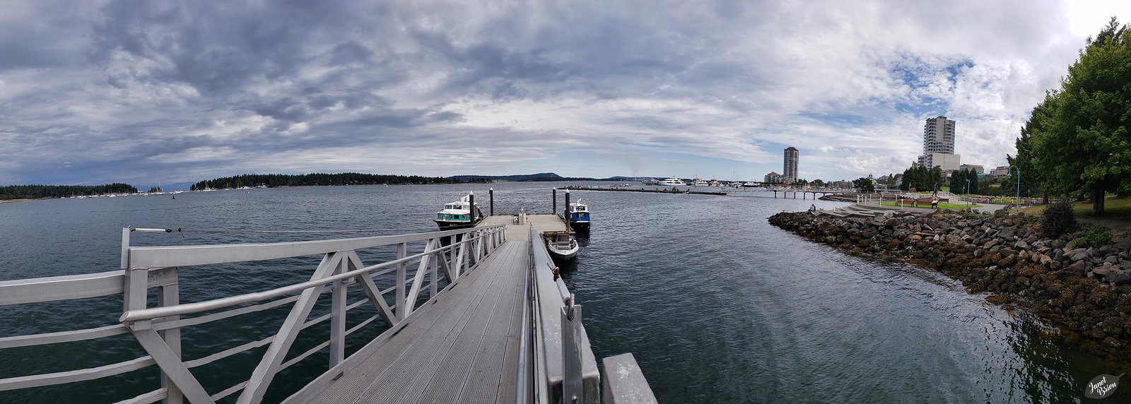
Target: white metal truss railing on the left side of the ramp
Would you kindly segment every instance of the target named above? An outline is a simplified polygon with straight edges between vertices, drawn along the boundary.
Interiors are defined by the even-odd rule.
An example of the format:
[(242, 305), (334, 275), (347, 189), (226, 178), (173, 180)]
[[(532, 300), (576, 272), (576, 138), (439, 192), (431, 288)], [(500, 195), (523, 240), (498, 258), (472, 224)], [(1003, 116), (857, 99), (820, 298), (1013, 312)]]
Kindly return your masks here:
[[(181, 403), (214, 403), (242, 390), (238, 403), (258, 403), (270, 386), (271, 379), (314, 353), (329, 349), (329, 367), (342, 363), (345, 357), (345, 337), (382, 318), (390, 327), (408, 317), (418, 307), (417, 298), (430, 288), (429, 300), (439, 296), (438, 281), (442, 271), (450, 284), (470, 271), (489, 254), (506, 241), (506, 226), (470, 228), (402, 236), (361, 237), (334, 240), (200, 245), (173, 247), (131, 247), (130, 229), (122, 229), (122, 270), (83, 275), (51, 276), (28, 280), (0, 281), (0, 306), (83, 299), (123, 295), (121, 324), (95, 328), (74, 330), (34, 335), (0, 337), (0, 350), (52, 343), (94, 340), (113, 335), (132, 334), (147, 355), (94, 368), (27, 375), (0, 379), (0, 392), (98, 379), (157, 365), (162, 386), (127, 399), (128, 403), (153, 403), (165, 399)], [(451, 240), (443, 245), (444, 239)], [(423, 243), (423, 251), (408, 254), (411, 243)], [(396, 246), (395, 260), (364, 265), (357, 249)], [(322, 255), (309, 281), (271, 290), (231, 296), (219, 299), (181, 304), (178, 272), (187, 266), (239, 263), (247, 261), (278, 260)], [(409, 278), (408, 266), (417, 264)], [(392, 284), (381, 289), (378, 276), (392, 274)], [(388, 278), (388, 276), (386, 276)], [(385, 281), (385, 278), (381, 278)], [(365, 297), (346, 304), (348, 284), (357, 283)], [(156, 288), (157, 307), (147, 307), (150, 288)], [(321, 293), (329, 291), (330, 313), (308, 320)], [(296, 295), (297, 293), (297, 295)], [(388, 299), (392, 297), (390, 305)], [(346, 328), (346, 313), (372, 304), (378, 314)], [(291, 311), (274, 335), (244, 343), (211, 354), (184, 360), (181, 357), (181, 330), (223, 318), (291, 305)], [(239, 306), (239, 307), (234, 307)], [(234, 307), (234, 308), (233, 308)], [(218, 310), (218, 311), (217, 311)], [(211, 311), (200, 315), (205, 311)], [(185, 315), (198, 315), (182, 318)], [(300, 332), (317, 324), (330, 322), (330, 336), (326, 342), (284, 360)], [(267, 345), (259, 365), (250, 378), (221, 392), (206, 392), (193, 376), (193, 368), (223, 358)], [(353, 355), (365, 354), (357, 351)]]

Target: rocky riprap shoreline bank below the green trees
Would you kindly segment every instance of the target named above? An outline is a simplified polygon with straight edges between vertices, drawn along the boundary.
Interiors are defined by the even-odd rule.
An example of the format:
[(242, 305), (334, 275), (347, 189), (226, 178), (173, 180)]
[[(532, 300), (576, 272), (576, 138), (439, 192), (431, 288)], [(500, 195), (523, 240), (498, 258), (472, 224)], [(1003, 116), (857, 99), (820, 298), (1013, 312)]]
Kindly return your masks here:
[[(1037, 217), (897, 212), (874, 219), (783, 212), (769, 222), (849, 253), (938, 270), (972, 293), (1052, 324), (1051, 335), (1128, 357), (1131, 348), (1131, 238), (1089, 245), (1082, 232), (1050, 239)], [(1083, 336), (1083, 339), (1080, 339)]]

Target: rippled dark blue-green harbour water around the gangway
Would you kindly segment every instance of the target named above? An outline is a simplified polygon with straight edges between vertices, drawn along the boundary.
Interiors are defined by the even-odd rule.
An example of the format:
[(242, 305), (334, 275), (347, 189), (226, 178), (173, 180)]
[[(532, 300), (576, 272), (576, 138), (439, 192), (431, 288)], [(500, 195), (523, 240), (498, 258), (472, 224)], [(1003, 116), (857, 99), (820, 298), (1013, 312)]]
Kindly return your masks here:
[[(434, 231), (432, 214), (464, 192), (474, 191), (484, 210), (487, 188), (494, 187), (497, 212), (549, 212), (553, 185), (564, 183), (295, 187), (184, 193), (175, 200), (150, 195), (5, 203), (0, 280), (116, 270), (121, 228), (127, 226), (382, 229), (135, 234), (133, 245)], [(804, 210), (813, 201), (754, 193), (573, 192), (572, 197), (590, 204), (594, 225), (563, 278), (585, 306), (595, 353), (632, 352), (663, 403), (1080, 402), (1093, 377), (1131, 371), (1129, 363), (1044, 339), (1046, 326), (1031, 316), (1008, 314), (944, 275), (848, 256), (766, 222), (770, 214)], [(369, 252), (363, 258), (389, 254)], [(318, 257), (311, 257), (184, 269), (181, 299), (294, 283), (308, 279), (317, 264)], [(364, 307), (351, 311), (351, 325), (373, 314)], [(120, 297), (5, 307), (0, 336), (112, 325), (120, 314)], [(207, 330), (189, 328), (184, 355), (200, 358), (262, 339), (285, 315), (285, 309), (273, 309)], [(351, 349), (379, 332), (360, 333), (364, 335), (351, 341)], [(325, 337), (312, 331), (292, 352)], [(206, 389), (216, 393), (245, 379), (261, 353), (253, 350), (195, 370)], [(128, 336), (0, 350), (0, 378), (141, 354)], [(286, 397), (325, 370), (325, 355), (312, 358), (277, 377), (267, 401)], [(114, 402), (153, 389), (156, 375), (143, 369), (98, 381), (0, 392), (0, 403)], [(1120, 388), (1108, 401), (1131, 402), (1131, 388)]]

